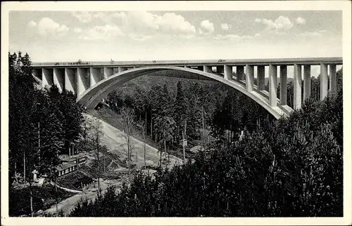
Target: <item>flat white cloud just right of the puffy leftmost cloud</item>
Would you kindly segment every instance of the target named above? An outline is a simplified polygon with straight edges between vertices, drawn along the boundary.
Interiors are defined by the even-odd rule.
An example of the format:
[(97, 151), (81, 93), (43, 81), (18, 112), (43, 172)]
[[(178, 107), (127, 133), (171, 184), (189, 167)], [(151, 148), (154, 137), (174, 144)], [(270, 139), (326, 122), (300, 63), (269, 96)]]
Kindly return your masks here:
[(95, 26), (83, 32), (80, 39), (84, 40), (97, 40), (97, 39), (111, 39), (115, 36), (124, 36), (125, 34), (117, 26), (104, 25)]

